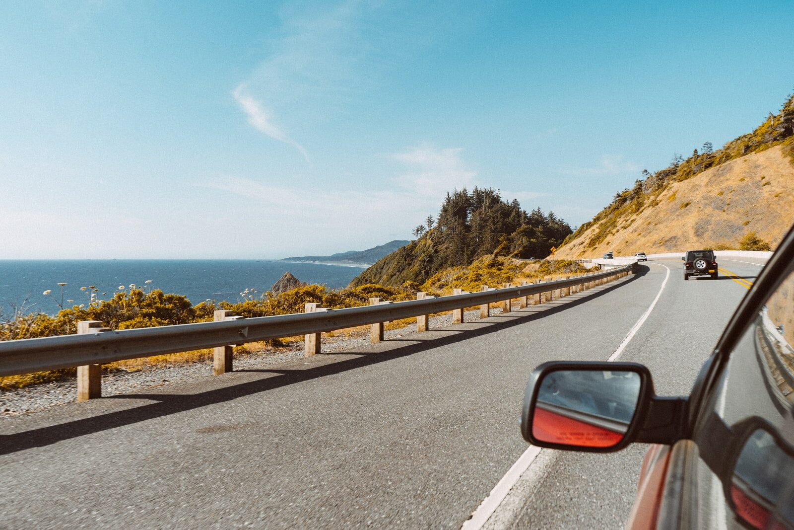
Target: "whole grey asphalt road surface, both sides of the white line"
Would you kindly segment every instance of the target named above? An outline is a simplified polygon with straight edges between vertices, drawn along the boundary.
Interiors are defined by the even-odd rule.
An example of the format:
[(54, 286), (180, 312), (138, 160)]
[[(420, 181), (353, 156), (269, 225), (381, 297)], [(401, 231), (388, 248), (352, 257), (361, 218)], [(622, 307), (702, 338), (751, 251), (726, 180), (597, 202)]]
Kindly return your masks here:
[[(746, 288), (680, 261), (507, 315), (2, 422), (2, 528), (460, 528), (526, 450), (534, 366), (620, 360), (687, 393)], [(754, 277), (756, 265), (721, 265)], [(752, 279), (750, 279), (752, 281)], [(643, 447), (543, 451), (491, 526), (617, 528)]]

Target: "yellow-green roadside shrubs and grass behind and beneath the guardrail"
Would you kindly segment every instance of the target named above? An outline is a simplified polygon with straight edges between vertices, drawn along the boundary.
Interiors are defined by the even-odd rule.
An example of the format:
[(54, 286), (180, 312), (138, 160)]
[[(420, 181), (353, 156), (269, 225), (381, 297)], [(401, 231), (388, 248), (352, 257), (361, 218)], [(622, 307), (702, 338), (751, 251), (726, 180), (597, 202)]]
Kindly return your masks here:
[[(416, 293), (428, 292), (443, 296), (452, 294), (453, 288), (463, 288), (470, 292), (479, 291), (483, 284), (498, 287), (501, 284), (534, 280), (538, 277), (558, 278), (572, 273), (582, 273), (584, 268), (576, 261), (518, 261), (507, 257), (488, 256), (466, 267), (456, 267), (437, 273), (424, 284), (406, 282), (399, 287), (378, 284), (365, 284), (353, 288), (331, 289), (324, 285), (306, 285), (281, 294), (264, 292), (256, 294), (254, 289), (245, 289), (236, 303), (201, 302), (191, 304), (187, 297), (178, 294), (165, 294), (160, 289), (149, 290), (147, 286), (119, 286), (107, 300), (97, 295), (91, 296), (89, 304), (62, 308), (56, 315), (43, 312), (25, 311), (25, 305), (13, 308), (10, 314), (0, 311), (0, 340), (36, 339), (52, 335), (72, 335), (77, 332), (81, 320), (97, 320), (103, 327), (116, 330), (137, 327), (156, 327), (172, 324), (209, 322), (214, 311), (225, 309), (234, 315), (247, 318), (257, 316), (286, 315), (303, 312), (304, 304), (314, 302), (324, 308), (352, 308), (369, 304), (369, 299), (399, 302), (415, 300)], [(94, 292), (94, 286), (87, 292)], [(62, 303), (56, 302), (62, 305)], [(415, 319), (403, 319), (386, 324), (386, 329), (399, 329), (411, 325)], [(368, 327), (331, 331), (326, 335), (333, 337), (354, 337), (368, 333)], [(249, 343), (237, 346), (236, 355), (266, 354), (275, 355), (294, 349), (303, 337), (286, 337), (268, 342)], [(188, 362), (211, 362), (212, 350), (196, 350), (179, 354), (157, 355), (149, 358), (130, 359), (103, 365), (104, 373), (118, 371), (134, 372), (148, 366), (175, 365)], [(52, 381), (67, 380), (75, 377), (75, 369), (60, 369), (24, 375), (0, 377), (0, 390), (23, 388)]]

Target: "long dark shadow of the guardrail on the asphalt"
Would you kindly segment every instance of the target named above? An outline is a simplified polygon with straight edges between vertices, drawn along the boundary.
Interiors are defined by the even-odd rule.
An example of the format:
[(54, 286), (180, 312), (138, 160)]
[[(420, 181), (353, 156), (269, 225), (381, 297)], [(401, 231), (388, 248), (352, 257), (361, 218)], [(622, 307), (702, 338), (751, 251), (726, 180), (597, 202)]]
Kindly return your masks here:
[[(335, 354), (355, 354), (356, 358), (345, 359), (329, 364), (316, 366), (308, 369), (245, 369), (238, 370), (240, 373), (276, 373), (272, 377), (264, 377), (256, 381), (246, 381), (237, 385), (225, 386), (220, 389), (208, 390), (198, 394), (168, 394), (168, 393), (127, 393), (103, 398), (104, 400), (113, 399), (142, 399), (156, 400), (156, 403), (141, 405), (137, 408), (124, 408), (114, 412), (106, 412), (98, 416), (90, 416), (80, 420), (72, 420), (63, 424), (39, 427), (29, 431), (21, 431), (11, 435), (0, 435), (0, 455), (8, 455), (33, 447), (44, 447), (52, 443), (58, 443), (67, 439), (79, 438), (80, 436), (91, 435), (96, 432), (106, 431), (116, 427), (137, 424), (141, 421), (152, 420), (162, 416), (170, 416), (179, 412), (185, 412), (194, 408), (206, 407), (212, 404), (222, 403), (237, 399), (238, 397), (250, 396), (256, 393), (267, 392), (268, 390), (278, 389), (286, 385), (293, 385), (303, 381), (311, 381), (319, 377), (326, 377), (343, 373), (351, 369), (370, 366), (380, 362), (391, 361), (392, 359), (407, 357), (408, 355), (418, 354), (422, 351), (430, 350), (439, 346), (449, 346), (456, 342), (472, 339), (473, 337), (495, 333), (504, 329), (530, 323), (536, 319), (549, 315), (555, 315), (567, 308), (573, 308), (584, 304), (588, 300), (593, 300), (599, 296), (604, 296), (614, 291), (622, 285), (628, 284), (638, 277), (645, 276), (649, 272), (649, 267), (638, 265), (636, 273), (629, 277), (615, 281), (585, 292), (584, 296), (571, 296), (571, 300), (559, 306), (545, 307), (542, 311), (532, 311), (530, 308), (519, 311), (511, 311), (507, 315), (492, 316), (486, 320), (486, 326), (478, 326), (476, 329), (469, 330), (449, 330), (456, 333), (438, 338), (428, 339), (403, 339), (410, 340), (412, 344), (397, 345), (386, 351), (351, 351)], [(542, 304), (546, 305), (546, 304)], [(539, 306), (534, 306), (538, 308)], [(498, 319), (493, 321), (491, 319)], [(479, 323), (483, 323), (480, 321)], [(469, 324), (469, 323), (467, 323)], [(464, 324), (465, 325), (465, 324)], [(437, 332), (448, 331), (434, 330)], [(399, 339), (391, 339), (387, 342), (380, 342), (380, 347), (388, 346), (393, 342), (402, 342)], [(325, 354), (321, 354), (323, 357)], [(221, 381), (218, 381), (221, 382)], [(82, 405), (83, 407), (85, 404)]]

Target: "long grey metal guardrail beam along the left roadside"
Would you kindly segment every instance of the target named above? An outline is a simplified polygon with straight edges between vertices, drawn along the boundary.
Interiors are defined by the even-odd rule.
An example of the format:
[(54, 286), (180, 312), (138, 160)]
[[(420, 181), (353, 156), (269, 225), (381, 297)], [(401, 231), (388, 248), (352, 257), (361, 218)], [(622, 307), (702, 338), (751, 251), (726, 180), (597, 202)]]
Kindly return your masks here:
[[(626, 265), (583, 277), (520, 285), (425, 300), (409, 300), (358, 308), (326, 309), (292, 315), (233, 317), (222, 322), (179, 324), (113, 331), (106, 328), (83, 330), (81, 335), (60, 335), (39, 339), (0, 342), (0, 376), (43, 370), (96, 366), (126, 359), (174, 354), (204, 348), (228, 347), (246, 342), (313, 335), (347, 327), (391, 320), (422, 317), (431, 313), (460, 310), (482, 304), (538, 295), (594, 281), (624, 276), (633, 269)], [(86, 332), (87, 331), (87, 332)], [(97, 376), (98, 377), (98, 376)], [(80, 386), (80, 375), (78, 375)], [(87, 397), (85, 397), (87, 399)]]

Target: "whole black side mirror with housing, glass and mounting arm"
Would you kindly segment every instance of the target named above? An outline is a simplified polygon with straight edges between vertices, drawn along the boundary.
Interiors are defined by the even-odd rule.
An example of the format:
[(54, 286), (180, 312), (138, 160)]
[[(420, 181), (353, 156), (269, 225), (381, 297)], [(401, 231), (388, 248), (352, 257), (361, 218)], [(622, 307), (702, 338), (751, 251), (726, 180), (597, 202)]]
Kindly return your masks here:
[(535, 446), (569, 451), (673, 443), (684, 406), (683, 398), (655, 397), (648, 369), (634, 362), (546, 362), (526, 384), (521, 433)]

